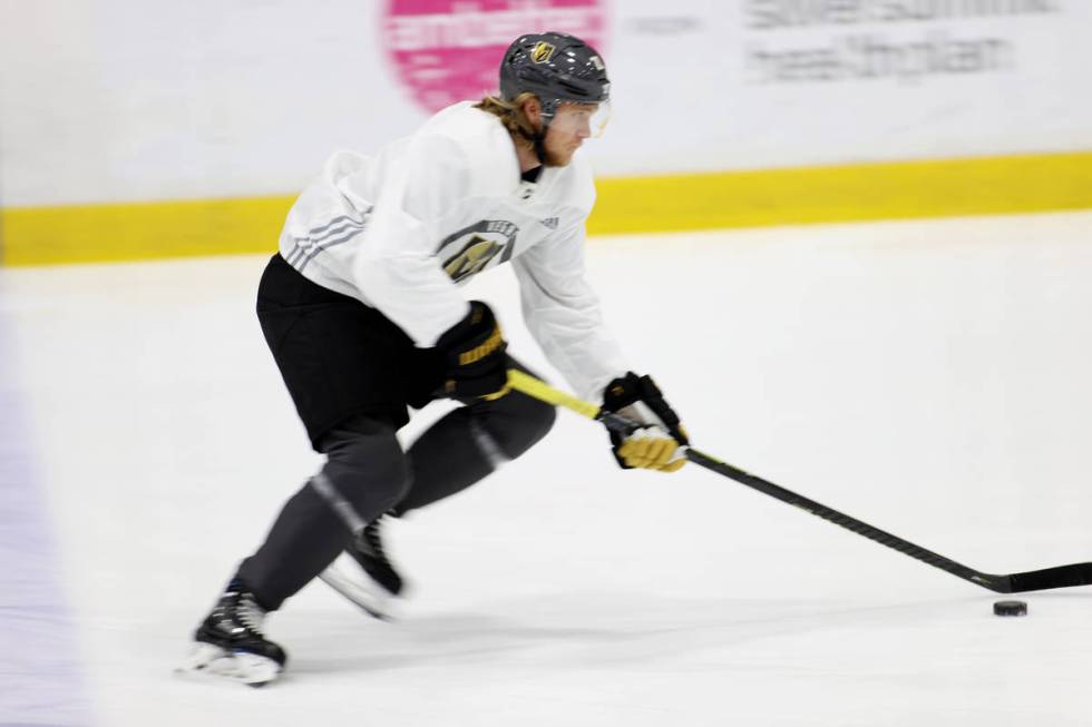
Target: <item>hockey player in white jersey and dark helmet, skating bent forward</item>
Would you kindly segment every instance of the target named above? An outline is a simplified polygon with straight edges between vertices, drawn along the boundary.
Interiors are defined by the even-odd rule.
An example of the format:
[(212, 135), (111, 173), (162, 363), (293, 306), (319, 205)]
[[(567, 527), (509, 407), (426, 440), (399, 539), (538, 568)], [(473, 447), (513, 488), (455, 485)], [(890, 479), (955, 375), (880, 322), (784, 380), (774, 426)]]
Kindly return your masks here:
[[(266, 612), (343, 550), (358, 589), (398, 596), (384, 514), (449, 497), (523, 454), (552, 406), (509, 391), (493, 311), (459, 283), (511, 263), (525, 321), (587, 399), (643, 426), (612, 434), (624, 468), (674, 471), (685, 434), (652, 380), (628, 371), (584, 279), (595, 191), (581, 145), (608, 102), (598, 53), (572, 36), (528, 35), (506, 51), (500, 96), (443, 109), (373, 157), (338, 153), (289, 213), (257, 315), (312, 446), (325, 463), (285, 503), (199, 625), (184, 665), (261, 685), (285, 654)], [(403, 452), (408, 407), (462, 406)], [(345, 583), (330, 580), (339, 590)], [(347, 593), (348, 595), (348, 593)], [(379, 601), (360, 601), (382, 615)]]

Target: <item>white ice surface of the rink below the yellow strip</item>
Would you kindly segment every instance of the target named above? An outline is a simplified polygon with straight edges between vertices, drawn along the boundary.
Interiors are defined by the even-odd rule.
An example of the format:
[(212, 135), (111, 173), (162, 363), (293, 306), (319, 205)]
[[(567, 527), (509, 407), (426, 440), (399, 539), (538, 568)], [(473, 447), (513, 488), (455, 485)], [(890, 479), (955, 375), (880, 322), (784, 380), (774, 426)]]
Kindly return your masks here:
[[(0, 725), (1092, 725), (1092, 588), (995, 617), (730, 480), (623, 472), (569, 413), (394, 523), (399, 622), (316, 582), (267, 622), (282, 681), (174, 676), (319, 463), (264, 261), (0, 269)], [(588, 265), (699, 449), (979, 570), (1092, 560), (1092, 213), (604, 238)], [(510, 272), (468, 294), (543, 365)]]

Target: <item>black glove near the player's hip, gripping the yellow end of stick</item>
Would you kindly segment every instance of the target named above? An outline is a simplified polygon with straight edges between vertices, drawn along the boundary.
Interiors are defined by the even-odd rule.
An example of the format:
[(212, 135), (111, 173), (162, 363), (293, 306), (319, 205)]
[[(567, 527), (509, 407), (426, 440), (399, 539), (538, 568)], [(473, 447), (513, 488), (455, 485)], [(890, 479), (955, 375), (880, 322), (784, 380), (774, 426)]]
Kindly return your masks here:
[(470, 301), (470, 313), (436, 342), (443, 361), (443, 393), (489, 399), (507, 394), (507, 347), (489, 306)]

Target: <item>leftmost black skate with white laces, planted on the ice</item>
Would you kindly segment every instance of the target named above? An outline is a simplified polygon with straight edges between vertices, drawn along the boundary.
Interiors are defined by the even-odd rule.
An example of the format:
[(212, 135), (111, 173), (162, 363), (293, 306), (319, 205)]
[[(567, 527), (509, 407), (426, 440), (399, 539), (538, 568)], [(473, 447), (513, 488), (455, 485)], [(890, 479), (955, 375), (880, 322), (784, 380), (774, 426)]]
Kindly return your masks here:
[(261, 687), (284, 668), (287, 656), (262, 633), (265, 610), (235, 578), (194, 633), (194, 648), (179, 671), (199, 672)]

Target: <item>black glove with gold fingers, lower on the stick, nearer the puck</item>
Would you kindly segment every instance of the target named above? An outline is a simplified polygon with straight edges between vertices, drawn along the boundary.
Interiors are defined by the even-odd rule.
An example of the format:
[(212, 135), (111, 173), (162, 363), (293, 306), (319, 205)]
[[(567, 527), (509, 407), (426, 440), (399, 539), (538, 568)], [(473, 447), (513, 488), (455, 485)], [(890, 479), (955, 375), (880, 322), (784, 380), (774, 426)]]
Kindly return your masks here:
[(603, 409), (641, 425), (627, 433), (610, 431), (614, 459), (623, 469), (674, 472), (686, 463), (677, 450), (690, 440), (651, 376), (631, 371), (612, 381), (603, 392)]

